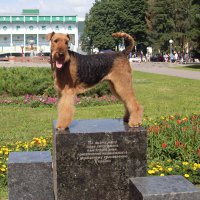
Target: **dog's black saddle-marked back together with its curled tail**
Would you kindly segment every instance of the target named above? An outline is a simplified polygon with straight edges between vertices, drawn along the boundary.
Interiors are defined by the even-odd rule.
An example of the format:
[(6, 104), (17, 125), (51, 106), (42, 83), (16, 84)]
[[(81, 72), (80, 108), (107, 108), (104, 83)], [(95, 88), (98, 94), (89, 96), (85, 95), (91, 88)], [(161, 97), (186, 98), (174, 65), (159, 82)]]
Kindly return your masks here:
[(69, 51), (70, 56), (75, 57), (77, 62), (77, 72), (80, 82), (87, 85), (95, 85), (101, 81), (111, 70), (114, 61), (117, 59), (127, 59), (127, 55), (132, 51), (134, 46), (133, 38), (127, 33), (113, 33), (115, 38), (125, 38), (129, 45), (122, 52), (109, 52), (94, 55), (81, 55)]

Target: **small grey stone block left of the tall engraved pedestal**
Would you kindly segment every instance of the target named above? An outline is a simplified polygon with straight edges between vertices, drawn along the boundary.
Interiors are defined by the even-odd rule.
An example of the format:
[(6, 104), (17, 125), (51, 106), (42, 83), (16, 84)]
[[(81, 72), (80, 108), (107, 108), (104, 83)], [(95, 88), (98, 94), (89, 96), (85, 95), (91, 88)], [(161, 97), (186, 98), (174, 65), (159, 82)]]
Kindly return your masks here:
[(50, 152), (11, 152), (8, 191), (9, 200), (54, 200)]

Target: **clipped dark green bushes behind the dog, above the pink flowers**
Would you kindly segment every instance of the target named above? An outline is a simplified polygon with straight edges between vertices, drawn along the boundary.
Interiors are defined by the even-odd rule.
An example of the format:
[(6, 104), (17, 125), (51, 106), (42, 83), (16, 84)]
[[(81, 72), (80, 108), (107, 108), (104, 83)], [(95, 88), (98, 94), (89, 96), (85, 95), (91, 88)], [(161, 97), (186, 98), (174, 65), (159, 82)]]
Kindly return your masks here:
[[(52, 71), (45, 67), (0, 68), (0, 95), (25, 94), (56, 96)], [(107, 83), (94, 87), (82, 96), (110, 94)]]

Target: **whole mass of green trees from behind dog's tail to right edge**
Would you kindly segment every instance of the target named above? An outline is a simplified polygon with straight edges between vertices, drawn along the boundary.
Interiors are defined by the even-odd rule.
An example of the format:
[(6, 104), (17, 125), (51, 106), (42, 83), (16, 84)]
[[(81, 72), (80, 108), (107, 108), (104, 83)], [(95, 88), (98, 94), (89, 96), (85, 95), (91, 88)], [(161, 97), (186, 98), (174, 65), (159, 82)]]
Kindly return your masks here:
[(96, 0), (85, 19), (83, 47), (115, 49), (122, 40), (118, 31), (132, 35), (137, 49), (155, 51), (193, 50), (200, 55), (199, 0)]

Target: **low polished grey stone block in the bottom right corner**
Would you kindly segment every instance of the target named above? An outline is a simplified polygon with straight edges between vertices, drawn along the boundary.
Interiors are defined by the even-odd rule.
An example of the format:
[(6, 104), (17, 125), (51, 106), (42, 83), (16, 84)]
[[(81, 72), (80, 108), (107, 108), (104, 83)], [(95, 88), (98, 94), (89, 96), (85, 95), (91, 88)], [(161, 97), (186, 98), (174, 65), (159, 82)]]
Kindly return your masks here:
[(200, 190), (178, 175), (130, 178), (130, 200), (200, 200)]

